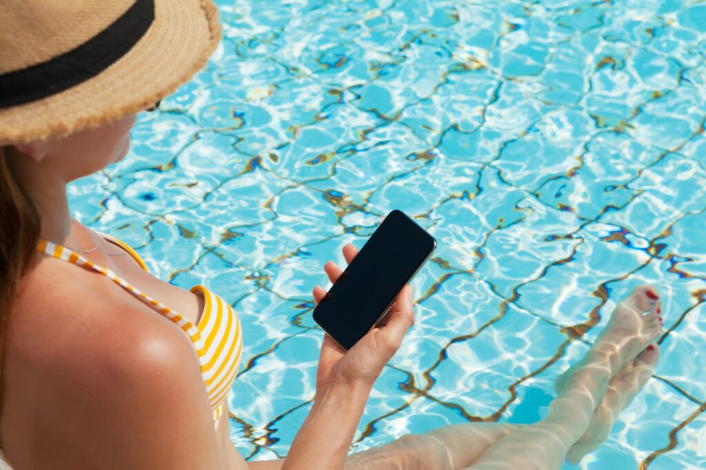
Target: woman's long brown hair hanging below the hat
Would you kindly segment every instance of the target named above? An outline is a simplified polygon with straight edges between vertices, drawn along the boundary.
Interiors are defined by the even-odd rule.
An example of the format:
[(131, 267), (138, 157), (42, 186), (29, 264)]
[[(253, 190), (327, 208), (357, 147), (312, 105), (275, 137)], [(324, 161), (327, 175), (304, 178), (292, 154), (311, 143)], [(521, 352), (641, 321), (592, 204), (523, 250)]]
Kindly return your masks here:
[(37, 206), (17, 183), (8, 162), (9, 147), (0, 145), (0, 416), (4, 404), (5, 337), (10, 311), (40, 239)]

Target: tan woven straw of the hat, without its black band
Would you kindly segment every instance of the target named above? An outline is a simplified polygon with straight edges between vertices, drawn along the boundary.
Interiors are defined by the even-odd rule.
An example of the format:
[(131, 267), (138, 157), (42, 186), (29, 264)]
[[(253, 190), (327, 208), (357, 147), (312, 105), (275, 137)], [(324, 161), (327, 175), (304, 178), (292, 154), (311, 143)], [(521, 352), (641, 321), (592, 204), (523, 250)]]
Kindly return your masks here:
[[(41, 1), (33, 13), (36, 18), (29, 20), (26, 13), (23, 18), (12, 16), (8, 13), (11, 1), (0, 0), (0, 25), (12, 24), (0, 32), (4, 49), (0, 53), (0, 73), (47, 60), (82, 44), (132, 3)], [(107, 8), (106, 4), (112, 6)], [(67, 16), (66, 11), (78, 13)], [(94, 13), (90, 25), (76, 20)], [(64, 21), (63, 28), (56, 18)], [(52, 44), (45, 44), (48, 33), (40, 28), (45, 23), (53, 24), (49, 37), (54, 39), (48, 41)], [(96, 27), (99, 23), (102, 28)], [(127, 54), (97, 76), (42, 100), (0, 109), (0, 145), (63, 137), (146, 109), (203, 68), (221, 35), (218, 11), (210, 0), (155, 0), (155, 21), (150, 29)], [(13, 42), (11, 52), (8, 44), (6, 47), (9, 42)]]

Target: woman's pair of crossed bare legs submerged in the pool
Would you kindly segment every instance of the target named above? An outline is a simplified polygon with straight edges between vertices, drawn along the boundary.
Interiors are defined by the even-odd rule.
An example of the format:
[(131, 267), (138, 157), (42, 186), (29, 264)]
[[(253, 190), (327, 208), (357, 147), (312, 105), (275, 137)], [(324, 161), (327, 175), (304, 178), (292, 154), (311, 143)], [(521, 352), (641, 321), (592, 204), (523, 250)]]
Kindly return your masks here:
[[(650, 294), (646, 294), (647, 289), (650, 289)], [(596, 345), (580, 361), (578, 367), (573, 366), (557, 380), (556, 389), (559, 394), (568, 384), (573, 388), (561, 397), (561, 402), (556, 400), (556, 403), (552, 402), (550, 416), (539, 423), (532, 426), (509, 423), (462, 423), (443, 426), (418, 435), (408, 434), (388, 445), (350, 454), (345, 468), (347, 470), (455, 470), (474, 464), (473, 469), (504, 469), (511, 463), (513, 452), (515, 455), (522, 456), (521, 462), (515, 462), (518, 468), (532, 468), (532, 464), (540, 469), (552, 468), (549, 462), (554, 462), (554, 468), (558, 468), (567, 452), (570, 462), (580, 459), (586, 452), (594, 450), (605, 440), (620, 411), (627, 406), (652, 373), (654, 363), (659, 357), (656, 347), (642, 352), (634, 361), (630, 358), (631, 354), (635, 354), (635, 351), (639, 352), (640, 348), (644, 348), (656, 337), (654, 326), (657, 323), (657, 316), (655, 314), (658, 312), (659, 305), (651, 302), (652, 295), (654, 295), (654, 289), (651, 287), (638, 287), (616, 308), (614, 317), (606, 326), (608, 331), (602, 332)], [(652, 308), (652, 313), (648, 315), (640, 313), (648, 308)], [(639, 317), (637, 322), (633, 322), (632, 317), (622, 316), (633, 315), (633, 313), (637, 313)], [(621, 318), (616, 315), (621, 315)], [(632, 334), (630, 330), (633, 331)], [(638, 331), (637, 344), (635, 344), (635, 331)], [(626, 338), (633, 338), (630, 347)], [(602, 342), (600, 347), (599, 342)], [(597, 363), (597, 357), (603, 358), (602, 364), (601, 361)], [(621, 366), (623, 367), (614, 374), (613, 371)], [(596, 369), (598, 369), (597, 373), (591, 372)], [(610, 380), (609, 385), (606, 385), (607, 380)], [(602, 385), (599, 383), (601, 381)], [(576, 389), (580, 390), (581, 387), (586, 386), (594, 388), (594, 392), (580, 392), (576, 397)], [(578, 399), (572, 403), (571, 397)], [(602, 402), (599, 406), (594, 406), (594, 402), (598, 402), (599, 397), (602, 397)], [(585, 413), (582, 418), (575, 420), (575, 416), (571, 415), (571, 409), (578, 402), (584, 402), (586, 405)], [(576, 421), (578, 430), (571, 432), (567, 429), (567, 426), (570, 428), (573, 424), (570, 421)], [(584, 429), (582, 434), (580, 434), (581, 428)], [(520, 432), (525, 434), (518, 434)], [(514, 447), (514, 444), (508, 445), (508, 442), (514, 440), (517, 448), (503, 451), (507, 452), (505, 454), (494, 450), (493, 452), (500, 454), (501, 457), (497, 462), (479, 461), (479, 457), (484, 457), (484, 461), (489, 460), (491, 454), (484, 454), (484, 452), (491, 450), (500, 440), (502, 441), (499, 443), (505, 442), (503, 447)], [(575, 443), (573, 447), (569, 448), (573, 443)], [(558, 452), (555, 452), (557, 450), (555, 445), (560, 449)], [(546, 452), (547, 450), (549, 452)], [(524, 458), (528, 454), (532, 454), (530, 461)], [(552, 458), (554, 454), (556, 457)]]

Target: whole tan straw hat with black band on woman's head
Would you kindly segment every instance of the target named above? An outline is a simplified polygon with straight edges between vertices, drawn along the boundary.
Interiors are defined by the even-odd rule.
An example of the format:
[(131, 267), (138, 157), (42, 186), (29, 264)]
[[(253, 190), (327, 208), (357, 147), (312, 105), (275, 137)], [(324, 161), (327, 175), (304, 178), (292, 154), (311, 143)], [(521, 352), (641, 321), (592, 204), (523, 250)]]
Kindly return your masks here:
[(0, 0), (0, 145), (147, 109), (221, 34), (211, 0)]

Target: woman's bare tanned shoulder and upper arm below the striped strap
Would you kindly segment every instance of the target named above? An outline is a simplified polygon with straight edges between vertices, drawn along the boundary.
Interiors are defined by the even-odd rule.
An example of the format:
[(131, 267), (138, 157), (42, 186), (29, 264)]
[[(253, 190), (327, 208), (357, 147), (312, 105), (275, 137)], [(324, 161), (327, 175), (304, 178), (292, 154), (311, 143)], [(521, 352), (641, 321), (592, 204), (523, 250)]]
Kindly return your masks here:
[[(8, 450), (13, 442), (83, 442), (95, 454), (82, 458), (95, 463), (101, 455), (122, 458), (114, 442), (134, 444), (137, 455), (154, 433), (164, 434), (164, 445), (189, 444), (179, 442), (180, 427), (208, 435), (210, 404), (189, 337), (136, 299), (116, 295), (104, 277), (76, 270), (66, 276), (51, 264), (32, 272), (11, 312), (4, 370), (5, 409), (12, 410), (3, 416)], [(32, 426), (26, 416), (35, 417)], [(52, 435), (58, 429), (62, 435)], [(173, 454), (155, 446), (145, 462)], [(41, 453), (66, 454), (59, 444)]]

